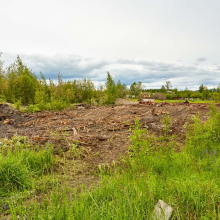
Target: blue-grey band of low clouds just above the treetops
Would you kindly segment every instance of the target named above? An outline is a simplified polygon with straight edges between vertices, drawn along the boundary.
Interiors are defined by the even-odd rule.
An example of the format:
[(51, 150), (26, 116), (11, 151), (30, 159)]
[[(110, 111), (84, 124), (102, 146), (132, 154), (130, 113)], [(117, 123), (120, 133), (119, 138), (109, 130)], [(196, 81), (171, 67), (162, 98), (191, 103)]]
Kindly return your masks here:
[[(160, 88), (167, 80), (171, 81), (173, 88), (196, 90), (204, 84), (209, 88), (217, 87), (220, 83), (219, 66), (201, 68), (195, 65), (184, 65), (182, 62), (165, 63), (148, 60), (133, 60), (118, 58), (114, 60), (101, 60), (85, 58), (78, 55), (20, 55), (23, 63), (36, 74), (40, 71), (48, 79), (57, 79), (58, 73), (63, 80), (90, 78), (96, 84), (106, 80), (106, 72), (109, 71), (115, 81), (121, 80), (126, 85), (141, 81), (146, 88)], [(2, 60), (5, 66), (14, 62), (14, 54), (4, 53)], [(200, 57), (198, 62), (205, 61)]]

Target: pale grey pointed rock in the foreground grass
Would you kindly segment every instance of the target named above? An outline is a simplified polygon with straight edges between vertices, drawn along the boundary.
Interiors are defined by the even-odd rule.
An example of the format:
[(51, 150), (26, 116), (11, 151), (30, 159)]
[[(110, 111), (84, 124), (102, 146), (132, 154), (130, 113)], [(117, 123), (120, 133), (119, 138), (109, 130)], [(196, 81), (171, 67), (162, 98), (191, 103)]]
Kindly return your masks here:
[(169, 220), (173, 213), (173, 208), (162, 200), (158, 200), (152, 213), (152, 220)]

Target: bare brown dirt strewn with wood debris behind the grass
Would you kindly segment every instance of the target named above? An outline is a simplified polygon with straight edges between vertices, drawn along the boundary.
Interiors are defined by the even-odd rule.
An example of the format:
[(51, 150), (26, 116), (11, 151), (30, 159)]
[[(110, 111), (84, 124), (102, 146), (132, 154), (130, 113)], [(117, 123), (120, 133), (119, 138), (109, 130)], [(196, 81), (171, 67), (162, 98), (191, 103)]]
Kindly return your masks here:
[[(205, 104), (159, 103), (141, 105), (123, 101), (116, 106), (76, 105), (74, 110), (21, 113), (7, 104), (0, 105), (0, 138), (27, 136), (37, 144), (53, 143), (55, 151), (67, 151), (74, 140), (85, 149), (90, 167), (116, 160), (128, 151), (129, 130), (138, 118), (142, 127), (160, 134), (161, 119), (169, 112), (171, 134), (184, 142), (188, 118), (198, 112), (207, 120)], [(126, 104), (125, 104), (126, 103)]]

